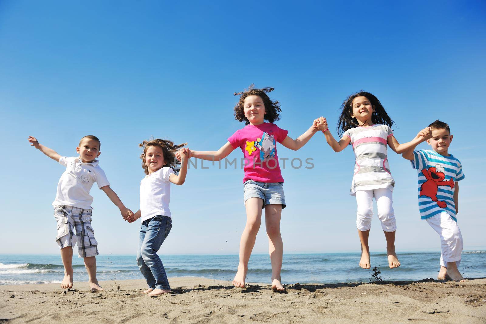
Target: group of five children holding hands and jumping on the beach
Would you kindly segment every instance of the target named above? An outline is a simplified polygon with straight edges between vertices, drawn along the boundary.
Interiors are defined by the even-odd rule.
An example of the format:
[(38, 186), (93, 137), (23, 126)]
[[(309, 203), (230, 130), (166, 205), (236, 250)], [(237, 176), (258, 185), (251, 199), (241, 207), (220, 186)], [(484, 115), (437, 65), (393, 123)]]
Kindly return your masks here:
[[(368, 92), (359, 92), (350, 95), (342, 104), (338, 122), (338, 133), (341, 137), (339, 141), (332, 136), (327, 120), (323, 117), (315, 119), (304, 134), (293, 139), (287, 135), (287, 130), (274, 124), (279, 119), (281, 109), (278, 101), (271, 100), (267, 95), (272, 90), (273, 88), (250, 87), (235, 93), (240, 95), (240, 100), (234, 107), (235, 119), (245, 122), (246, 126), (230, 136), (218, 151), (189, 150), (183, 147), (185, 144), (175, 145), (163, 139), (143, 141), (140, 144), (143, 149), (140, 159), (146, 176), (140, 182), (140, 209), (136, 213), (123, 205), (98, 165), (96, 158), (100, 155), (101, 143), (96, 136), (81, 138), (76, 148), (79, 156), (76, 157), (61, 156), (39, 144), (35, 137), (29, 136), (31, 145), (66, 167), (52, 203), (57, 221), (56, 241), (65, 269), (61, 288), (72, 287), (72, 247), (78, 242), (79, 257), (84, 257), (90, 288), (103, 290), (96, 279), (95, 256), (98, 255), (98, 249), (91, 227), (93, 198), (89, 195), (89, 190), (96, 182), (98, 188), (120, 209), (123, 219), (128, 222), (135, 222), (137, 219), (141, 221), (137, 264), (149, 287), (144, 293), (158, 295), (171, 291), (164, 266), (157, 255), (172, 228), (170, 184), (184, 183), (189, 158), (219, 161), (240, 148), (245, 160), (243, 203), (246, 209), (246, 225), (240, 240), (240, 261), (233, 285), (241, 288), (245, 286), (248, 260), (260, 228), (262, 210), (265, 209), (272, 264), (272, 289), (283, 291), (280, 277), (283, 255), (280, 219), (286, 203), (284, 180), (278, 165), (277, 142), (296, 151), (319, 131), (324, 133), (327, 143), (335, 152), (340, 152), (351, 144), (355, 153), (350, 194), (356, 196), (358, 205), (356, 226), (362, 251), (360, 267), (370, 268), (368, 236), (373, 216), (373, 198), (386, 239), (389, 267), (400, 266), (395, 253), (397, 225), (392, 206), (395, 181), (387, 158), (387, 148), (390, 147), (410, 160), (412, 167), (418, 172), (418, 205), (421, 218), (427, 220), (441, 240), (441, 267), (437, 279), (465, 280), (457, 269), (463, 241), (456, 219), (459, 194), (457, 181), (464, 179), (464, 174), (459, 160), (448, 153), (452, 135), (446, 123), (436, 120), (411, 141), (400, 144), (391, 129), (393, 120), (378, 98)], [(423, 141), (427, 141), (432, 150), (414, 151)], [(178, 170), (178, 173), (174, 173), (174, 170)]]

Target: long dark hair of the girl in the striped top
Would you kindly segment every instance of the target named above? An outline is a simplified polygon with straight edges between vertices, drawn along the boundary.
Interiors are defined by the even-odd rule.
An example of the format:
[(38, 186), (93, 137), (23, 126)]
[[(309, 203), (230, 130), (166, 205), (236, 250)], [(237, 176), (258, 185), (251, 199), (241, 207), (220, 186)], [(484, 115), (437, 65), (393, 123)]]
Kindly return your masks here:
[(349, 128), (359, 126), (358, 120), (351, 117), (353, 115), (353, 100), (356, 97), (366, 97), (366, 99), (368, 99), (373, 105), (373, 115), (371, 116), (371, 122), (373, 124), (383, 124), (391, 128), (395, 123), (388, 116), (385, 108), (378, 98), (369, 92), (361, 91), (358, 93), (353, 93), (347, 97), (341, 106), (341, 115), (339, 115), (339, 121), (336, 127), (339, 137), (342, 137), (344, 132), (346, 132)]

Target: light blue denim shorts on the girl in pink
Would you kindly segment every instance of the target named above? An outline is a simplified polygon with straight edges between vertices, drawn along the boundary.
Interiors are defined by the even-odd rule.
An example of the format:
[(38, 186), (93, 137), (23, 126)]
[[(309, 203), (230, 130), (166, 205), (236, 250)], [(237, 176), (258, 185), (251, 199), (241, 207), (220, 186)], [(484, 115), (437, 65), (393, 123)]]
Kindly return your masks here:
[(259, 182), (246, 180), (243, 184), (244, 203), (249, 198), (257, 197), (263, 200), (265, 205), (282, 205), (285, 208), (285, 196), (283, 194), (283, 182)]

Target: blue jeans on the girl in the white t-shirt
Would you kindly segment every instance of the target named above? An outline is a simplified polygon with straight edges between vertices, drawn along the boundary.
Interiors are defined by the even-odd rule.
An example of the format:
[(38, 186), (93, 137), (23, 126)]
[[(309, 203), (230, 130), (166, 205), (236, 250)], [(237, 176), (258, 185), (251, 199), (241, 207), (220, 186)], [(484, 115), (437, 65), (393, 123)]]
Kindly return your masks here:
[(171, 289), (164, 265), (157, 256), (157, 251), (169, 235), (171, 228), (172, 219), (167, 216), (155, 216), (140, 225), (137, 264), (152, 289)]

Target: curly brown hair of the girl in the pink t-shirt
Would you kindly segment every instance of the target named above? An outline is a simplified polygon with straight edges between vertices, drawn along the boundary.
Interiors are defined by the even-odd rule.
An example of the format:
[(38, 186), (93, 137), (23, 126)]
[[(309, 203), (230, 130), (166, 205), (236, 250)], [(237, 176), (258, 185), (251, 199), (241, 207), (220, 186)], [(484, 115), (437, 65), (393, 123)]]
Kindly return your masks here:
[(248, 89), (245, 89), (243, 92), (234, 93), (235, 96), (241, 95), (240, 101), (235, 106), (235, 119), (238, 121), (244, 121), (245, 125), (249, 125), (250, 121), (244, 115), (244, 100), (248, 96), (259, 96), (265, 105), (265, 116), (264, 119), (268, 120), (269, 122), (274, 122), (275, 120), (279, 120), (280, 117), (278, 116), (282, 109), (280, 109), (280, 103), (277, 100), (271, 100), (267, 93), (272, 92), (274, 88), (262, 88), (262, 89), (254, 89), (254, 85), (250, 85)]

